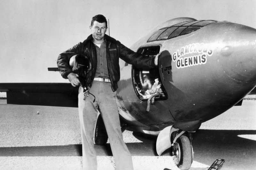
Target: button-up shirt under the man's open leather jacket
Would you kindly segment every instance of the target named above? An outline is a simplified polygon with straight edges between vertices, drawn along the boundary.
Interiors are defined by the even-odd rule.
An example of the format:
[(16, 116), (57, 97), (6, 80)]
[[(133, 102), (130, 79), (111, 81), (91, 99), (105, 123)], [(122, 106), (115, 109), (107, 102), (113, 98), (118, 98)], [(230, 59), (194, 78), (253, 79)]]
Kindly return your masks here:
[(107, 46), (106, 42), (100, 44), (100, 48), (96, 45), (97, 52), (97, 69), (95, 73), (95, 78), (109, 78), (108, 77), (108, 63), (107, 63)]

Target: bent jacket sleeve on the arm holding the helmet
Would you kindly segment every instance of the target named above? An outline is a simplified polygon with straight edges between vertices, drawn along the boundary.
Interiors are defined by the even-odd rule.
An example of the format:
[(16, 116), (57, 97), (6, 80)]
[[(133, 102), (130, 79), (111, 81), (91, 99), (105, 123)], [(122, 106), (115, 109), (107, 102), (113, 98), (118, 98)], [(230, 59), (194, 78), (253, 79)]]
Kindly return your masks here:
[(82, 43), (80, 42), (58, 56), (57, 65), (59, 68), (59, 72), (63, 78), (67, 79), (68, 74), (72, 72), (72, 69), (69, 66), (69, 60), (73, 55), (80, 53), (81, 46)]

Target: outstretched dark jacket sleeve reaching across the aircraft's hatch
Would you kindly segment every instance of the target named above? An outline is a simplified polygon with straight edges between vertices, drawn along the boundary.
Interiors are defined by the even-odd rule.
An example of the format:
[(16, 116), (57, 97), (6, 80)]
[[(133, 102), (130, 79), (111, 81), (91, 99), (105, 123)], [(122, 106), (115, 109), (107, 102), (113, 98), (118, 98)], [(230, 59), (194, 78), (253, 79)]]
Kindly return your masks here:
[(119, 49), (120, 49), (120, 58), (124, 60), (126, 63), (132, 64), (140, 69), (152, 69), (155, 68), (154, 57), (148, 57), (145, 55), (141, 55), (132, 51), (131, 49), (125, 47), (119, 41), (117, 41)]

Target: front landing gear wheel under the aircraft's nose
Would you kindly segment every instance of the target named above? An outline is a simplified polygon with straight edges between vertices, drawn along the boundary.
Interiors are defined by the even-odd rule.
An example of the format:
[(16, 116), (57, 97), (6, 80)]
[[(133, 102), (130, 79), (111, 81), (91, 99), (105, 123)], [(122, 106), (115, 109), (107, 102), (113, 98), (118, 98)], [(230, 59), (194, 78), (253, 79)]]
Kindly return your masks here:
[(192, 145), (187, 136), (180, 136), (172, 146), (172, 155), (175, 164), (181, 170), (190, 168), (193, 160)]

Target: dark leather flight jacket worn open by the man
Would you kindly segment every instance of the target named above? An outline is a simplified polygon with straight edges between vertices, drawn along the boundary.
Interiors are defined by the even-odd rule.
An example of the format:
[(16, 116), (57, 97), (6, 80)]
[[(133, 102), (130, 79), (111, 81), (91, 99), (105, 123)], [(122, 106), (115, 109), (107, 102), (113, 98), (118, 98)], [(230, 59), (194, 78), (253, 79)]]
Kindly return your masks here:
[[(140, 69), (151, 69), (156, 67), (153, 57), (143, 56), (136, 53), (106, 34), (104, 38), (107, 45), (106, 54), (108, 75), (113, 92), (117, 90), (117, 82), (120, 80), (119, 58)], [(91, 34), (86, 40), (84, 40), (84, 42), (78, 43), (58, 56), (57, 65), (63, 78), (67, 79), (68, 74), (72, 72), (72, 69), (69, 66), (70, 58), (76, 54), (84, 54), (89, 58), (92, 64), (92, 69), (86, 74), (87, 87), (92, 86), (92, 81), (94, 79), (97, 67), (97, 53), (92, 41), (93, 38)]]

